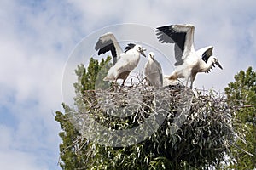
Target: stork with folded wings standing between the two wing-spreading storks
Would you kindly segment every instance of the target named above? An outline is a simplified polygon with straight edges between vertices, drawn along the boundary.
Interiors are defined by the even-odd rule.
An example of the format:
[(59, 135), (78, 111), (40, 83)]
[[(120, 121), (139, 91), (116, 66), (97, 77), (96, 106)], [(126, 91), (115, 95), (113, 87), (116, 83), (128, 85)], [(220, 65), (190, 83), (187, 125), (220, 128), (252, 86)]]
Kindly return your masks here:
[(160, 63), (154, 59), (154, 53), (148, 53), (148, 62), (145, 65), (144, 74), (148, 86), (160, 88), (163, 86), (162, 67)]

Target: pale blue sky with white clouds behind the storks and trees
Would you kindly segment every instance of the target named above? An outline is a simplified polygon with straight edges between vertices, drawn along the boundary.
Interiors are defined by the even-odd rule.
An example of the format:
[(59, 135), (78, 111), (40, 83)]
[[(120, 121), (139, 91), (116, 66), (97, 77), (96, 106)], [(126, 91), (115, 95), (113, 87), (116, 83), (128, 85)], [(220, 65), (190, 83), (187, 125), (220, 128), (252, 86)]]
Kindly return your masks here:
[[(65, 84), (73, 83), (63, 79), (73, 51), (81, 42), (90, 40), (86, 48), (93, 51), (99, 32), (113, 31), (119, 37), (125, 34), (114, 32), (116, 26), (133, 24), (154, 29), (192, 24), (195, 48), (212, 45), (224, 68), (197, 75), (194, 87), (223, 92), (238, 71), (245, 71), (248, 66), (255, 71), (255, 6), (253, 0), (2, 0), (0, 167), (61, 169), (58, 166), (61, 127), (54, 116), (55, 111), (63, 111), (61, 103), (66, 100), (63, 96), (65, 90), (70, 90)], [(155, 58), (163, 59), (160, 54)], [(80, 61), (86, 64), (86, 59), (88, 56), (73, 64), (79, 65)], [(173, 67), (166, 66), (163, 70), (168, 75)]]

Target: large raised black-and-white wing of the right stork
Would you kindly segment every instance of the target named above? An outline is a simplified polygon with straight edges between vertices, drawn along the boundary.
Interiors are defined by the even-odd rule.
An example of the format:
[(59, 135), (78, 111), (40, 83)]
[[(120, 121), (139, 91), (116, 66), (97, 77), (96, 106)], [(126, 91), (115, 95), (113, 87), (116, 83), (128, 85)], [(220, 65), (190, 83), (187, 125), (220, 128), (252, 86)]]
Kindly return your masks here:
[(175, 65), (182, 65), (183, 59), (194, 49), (195, 27), (191, 25), (161, 26), (156, 30), (157, 38), (162, 43), (175, 43)]

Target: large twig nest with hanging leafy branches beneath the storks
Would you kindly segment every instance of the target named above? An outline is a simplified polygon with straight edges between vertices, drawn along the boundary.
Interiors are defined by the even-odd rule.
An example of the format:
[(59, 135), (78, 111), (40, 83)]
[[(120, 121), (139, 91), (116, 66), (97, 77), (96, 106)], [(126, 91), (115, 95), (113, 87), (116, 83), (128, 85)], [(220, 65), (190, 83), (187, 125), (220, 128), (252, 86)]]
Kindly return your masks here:
[[(233, 110), (218, 93), (141, 85), (86, 90), (76, 102), (78, 111), (70, 112), (71, 120), (86, 144), (100, 144), (104, 150), (143, 144), (150, 152), (146, 155), (195, 167), (217, 164), (229, 155)], [(88, 153), (98, 151), (90, 148)]]

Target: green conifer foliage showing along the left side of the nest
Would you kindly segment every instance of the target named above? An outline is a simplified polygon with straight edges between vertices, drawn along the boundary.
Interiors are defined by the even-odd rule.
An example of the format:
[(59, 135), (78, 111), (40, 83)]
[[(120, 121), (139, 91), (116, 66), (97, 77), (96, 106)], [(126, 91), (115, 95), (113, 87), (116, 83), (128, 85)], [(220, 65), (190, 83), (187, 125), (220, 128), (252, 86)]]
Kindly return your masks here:
[[(111, 64), (109, 64), (110, 59), (110, 57), (102, 59), (101, 63), (99, 63), (96, 59), (91, 58), (87, 71), (84, 68), (84, 65), (78, 65), (78, 69), (75, 71), (78, 76), (78, 82), (74, 83), (74, 88), (77, 94), (84, 93), (85, 90), (93, 89), (95, 87), (98, 71), (103, 69), (102, 72), (106, 74), (111, 66)], [(104, 75), (100, 76), (103, 77)], [(74, 100), (75, 105), (79, 105), (79, 99), (75, 98)], [(62, 106), (65, 114), (61, 111), (56, 111), (55, 115), (55, 121), (60, 123), (62, 129), (62, 132), (59, 133), (59, 136), (62, 139), (62, 144), (60, 144), (60, 166), (65, 170), (81, 169), (81, 167), (86, 168), (86, 163), (88, 163), (86, 155), (89, 154), (88, 148), (90, 147), (90, 144), (86, 138), (81, 136), (70, 119), (70, 114), (72, 113), (73, 108), (70, 108), (64, 103)]]

